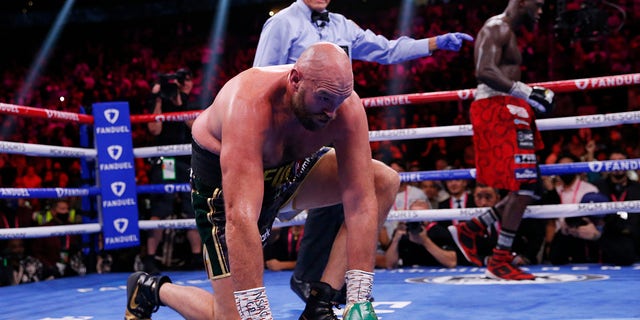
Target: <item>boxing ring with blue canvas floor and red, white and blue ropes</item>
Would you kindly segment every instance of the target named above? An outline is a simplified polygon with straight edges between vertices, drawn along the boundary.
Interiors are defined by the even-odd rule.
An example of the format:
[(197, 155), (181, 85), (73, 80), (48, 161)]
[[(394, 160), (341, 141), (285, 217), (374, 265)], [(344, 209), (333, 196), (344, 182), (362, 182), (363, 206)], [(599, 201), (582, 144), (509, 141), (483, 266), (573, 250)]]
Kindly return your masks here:
[[(640, 84), (640, 74), (626, 74), (588, 79), (575, 79), (538, 83), (556, 93), (577, 90), (597, 90)], [(533, 84), (532, 84), (533, 85)], [(434, 93), (405, 94), (385, 97), (364, 98), (366, 108), (392, 107), (398, 105), (426, 104), (440, 101), (472, 99), (475, 90), (464, 89)], [(107, 106), (104, 115), (109, 121)], [(72, 121), (93, 125), (94, 116), (63, 111), (52, 111), (34, 107), (0, 103), (0, 113), (23, 117), (45, 118), (51, 121)], [(195, 118), (199, 112), (166, 113), (161, 115), (131, 115), (131, 124), (151, 121), (185, 121)], [(128, 111), (123, 113), (128, 116)], [(117, 117), (116, 117), (117, 118)], [(539, 119), (540, 131), (578, 128), (609, 127), (640, 123), (640, 111), (595, 114), (578, 117)], [(121, 131), (125, 131), (122, 127)], [(110, 129), (109, 129), (110, 130)], [(95, 131), (96, 145), (101, 143), (100, 133)], [(117, 130), (112, 130), (117, 131)], [(410, 140), (424, 138), (446, 138), (471, 136), (472, 126), (453, 125), (441, 127), (407, 128), (370, 132), (370, 141)], [(118, 142), (120, 143), (120, 142)], [(128, 143), (131, 143), (130, 141)], [(120, 144), (119, 144), (120, 145)], [(122, 143), (127, 146), (127, 143)], [(0, 141), (0, 152), (22, 154), (34, 157), (78, 157), (96, 162), (96, 170), (108, 169), (101, 166), (105, 154), (119, 158), (129, 152), (135, 158), (187, 155), (191, 146), (168, 145), (134, 148), (123, 151), (110, 145), (100, 151), (94, 148), (59, 147)], [(131, 159), (130, 159), (131, 160)], [(133, 163), (113, 165), (132, 169)], [(563, 173), (600, 173), (615, 170), (639, 170), (640, 159), (592, 161), (570, 164), (540, 165), (542, 175)], [(117, 168), (116, 168), (117, 170)], [(100, 176), (100, 174), (98, 174)], [(417, 171), (400, 173), (406, 182), (423, 180), (474, 179), (475, 169), (447, 171)], [(155, 228), (195, 228), (191, 219), (178, 220), (137, 220), (132, 222), (121, 217), (110, 217), (109, 206), (137, 206), (134, 200), (122, 200), (107, 195), (109, 190), (116, 196), (127, 192), (174, 193), (190, 192), (188, 184), (135, 185), (135, 181), (110, 183), (97, 179), (95, 186), (85, 188), (0, 188), (0, 198), (96, 198), (100, 219), (96, 223), (56, 227), (30, 227), (0, 229), (0, 240), (11, 238), (36, 238), (61, 234), (95, 234), (105, 229), (117, 232), (132, 228), (135, 232)], [(103, 182), (102, 185), (100, 182)], [(120, 183), (122, 182), (122, 183)], [(135, 185), (135, 188), (131, 188)], [(129, 187), (129, 188), (127, 188)], [(125, 194), (126, 196), (126, 194)], [(119, 197), (119, 196), (118, 196)], [(106, 199), (106, 200), (105, 200)], [(134, 201), (131, 203), (131, 201)], [(100, 205), (102, 204), (102, 206)], [(105, 205), (106, 204), (106, 205)], [(483, 212), (482, 208), (442, 209), (442, 210), (397, 210), (389, 214), (391, 221), (420, 220), (467, 220)], [(553, 218), (582, 215), (597, 215), (610, 212), (640, 212), (640, 201), (604, 202), (587, 204), (565, 204), (529, 206), (526, 218)], [(277, 220), (274, 226), (303, 224), (305, 213), (289, 221)], [(126, 219), (125, 219), (126, 220)], [(135, 235), (135, 232), (133, 235)], [(135, 236), (122, 237), (122, 241), (134, 240)], [(113, 249), (123, 245), (116, 238)], [(124, 244), (127, 245), (127, 244)], [(482, 319), (640, 319), (640, 264), (633, 266), (568, 265), (562, 267), (535, 265), (528, 270), (538, 276), (528, 284), (518, 282), (491, 281), (483, 277), (484, 268), (413, 268), (398, 270), (376, 270), (374, 286), (374, 307), (380, 319), (459, 319), (473, 315)], [(196, 285), (210, 290), (204, 272), (169, 271), (174, 282)], [(115, 319), (122, 318), (125, 307), (125, 281), (128, 273), (88, 274), (74, 278), (63, 278), (32, 284), (0, 288), (1, 319)], [(265, 271), (265, 284), (276, 319), (297, 319), (304, 304), (289, 290), (291, 272)], [(517, 288), (514, 288), (516, 286)], [(36, 307), (37, 305), (37, 307)], [(341, 312), (337, 312), (341, 314)], [(155, 319), (179, 319), (168, 308), (161, 308), (154, 314)]]

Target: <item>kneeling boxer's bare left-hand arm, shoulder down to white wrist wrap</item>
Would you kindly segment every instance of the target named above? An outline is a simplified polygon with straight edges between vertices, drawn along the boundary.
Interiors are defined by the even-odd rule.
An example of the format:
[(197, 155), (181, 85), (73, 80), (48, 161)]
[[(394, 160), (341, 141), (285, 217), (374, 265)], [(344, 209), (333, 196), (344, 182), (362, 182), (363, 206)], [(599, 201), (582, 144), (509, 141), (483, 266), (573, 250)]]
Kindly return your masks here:
[[(250, 94), (248, 94), (250, 96)], [(222, 114), (220, 151), (226, 210), (226, 237), (234, 291), (263, 286), (262, 243), (257, 227), (262, 198), (263, 159), (268, 115), (255, 102), (233, 100)], [(262, 110), (260, 110), (262, 109)]]

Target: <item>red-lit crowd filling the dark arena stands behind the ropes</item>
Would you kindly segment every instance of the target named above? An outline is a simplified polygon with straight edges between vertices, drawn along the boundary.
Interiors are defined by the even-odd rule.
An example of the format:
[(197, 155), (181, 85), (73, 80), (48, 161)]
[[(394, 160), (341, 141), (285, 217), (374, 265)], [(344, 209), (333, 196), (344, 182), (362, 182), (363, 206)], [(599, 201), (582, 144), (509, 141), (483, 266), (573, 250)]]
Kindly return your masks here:
[[(399, 35), (423, 38), (454, 31), (475, 34), (483, 21), (497, 13), (494, 8), (502, 7), (493, 5), (495, 1), (473, 4), (418, 1), (414, 5), (411, 23), (407, 27), (399, 27), (399, 3), (373, 1), (376, 4), (373, 8), (362, 10), (362, 4), (350, 7), (346, 2), (334, 1), (329, 9), (344, 13), (357, 20), (363, 28), (388, 38)], [(531, 41), (534, 45), (522, 48), (523, 81), (577, 79), (640, 70), (640, 1), (620, 2), (627, 14), (621, 28), (618, 28), (621, 18), (614, 10), (609, 12), (609, 32), (606, 35), (579, 39), (555, 36), (553, 3), (547, 4), (546, 9), (551, 14), (547, 14), (540, 24), (541, 31)], [(205, 12), (118, 23), (68, 25), (46, 59), (37, 64), (33, 64), (33, 59), (40, 50), (48, 27), (24, 27), (20, 32), (3, 34), (2, 41), (10, 48), (3, 50), (0, 61), (0, 102), (90, 113), (92, 104), (96, 102), (127, 101), (131, 114), (144, 114), (149, 112), (147, 103), (151, 85), (159, 75), (186, 67), (193, 71), (194, 89), (190, 103), (204, 108), (228, 79), (251, 66), (261, 26), (268, 15), (246, 6), (232, 7), (224, 37), (211, 46), (210, 29), (214, 17), (214, 13)], [(18, 45), (18, 37), (30, 41), (24, 46)], [(533, 37), (533, 34), (524, 31), (522, 38), (527, 37)], [(361, 97), (376, 97), (474, 88), (476, 79), (472, 55), (473, 48), (465, 46), (458, 53), (439, 51), (431, 57), (397, 65), (355, 61), (355, 89)], [(207, 69), (214, 61), (217, 63), (213, 68)], [(30, 68), (40, 68), (37, 80), (21, 97)], [(212, 81), (206, 81), (207, 77)], [(206, 84), (209, 86), (205, 87)], [(558, 93), (556, 97), (552, 117), (640, 110), (640, 86), (637, 85)], [(375, 131), (468, 124), (469, 104), (469, 101), (453, 101), (369, 108), (369, 126), (371, 131)], [(80, 146), (80, 130), (77, 123), (0, 114), (0, 141), (77, 147)], [(134, 147), (151, 145), (146, 126), (134, 125), (132, 131)], [(565, 154), (571, 154), (580, 161), (607, 160), (612, 151), (620, 152), (629, 159), (640, 158), (639, 136), (638, 123), (553, 133), (545, 131), (546, 148), (540, 155), (540, 163), (556, 163)], [(471, 137), (380, 141), (371, 145), (373, 157), (387, 164), (401, 162), (407, 170), (475, 167), (473, 148), (469, 147)], [(148, 163), (137, 159), (136, 169), (137, 183), (149, 183)], [(2, 188), (77, 188), (91, 183), (90, 179), (82, 178), (81, 171), (78, 159), (0, 154)], [(634, 177), (637, 180), (637, 173), (629, 175), (632, 180)], [(582, 178), (596, 182), (605, 177), (592, 175)], [(440, 191), (448, 192), (444, 187)], [(439, 201), (445, 200), (442, 193)], [(431, 207), (438, 202), (430, 200)], [(3, 223), (1, 228), (43, 224), (31, 217), (51, 210), (53, 205), (47, 199), (2, 199), (0, 203), (0, 215), (4, 218), (0, 220)], [(78, 199), (71, 199), (69, 203), (80, 209)], [(95, 218), (95, 212), (82, 214)], [(144, 218), (144, 214), (141, 217)], [(29, 248), (29, 245), (4, 243), (4, 256), (8, 256), (10, 249), (19, 250), (20, 247)], [(30, 254), (27, 250), (21, 256)], [(99, 267), (105, 257), (96, 255), (91, 263), (87, 263), (89, 272), (107, 271)], [(545, 261), (541, 259), (538, 262)]]

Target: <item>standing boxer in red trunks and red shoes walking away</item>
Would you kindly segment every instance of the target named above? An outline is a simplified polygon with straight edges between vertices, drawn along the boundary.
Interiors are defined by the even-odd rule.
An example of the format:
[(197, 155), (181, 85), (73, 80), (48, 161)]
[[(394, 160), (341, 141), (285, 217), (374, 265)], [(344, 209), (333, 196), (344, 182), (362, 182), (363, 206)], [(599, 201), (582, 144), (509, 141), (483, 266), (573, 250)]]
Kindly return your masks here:
[(543, 148), (543, 143), (533, 109), (550, 112), (553, 92), (520, 82), (522, 55), (516, 33), (522, 26), (533, 31), (543, 5), (543, 0), (510, 0), (502, 14), (489, 18), (482, 26), (474, 49), (479, 84), (470, 115), (476, 179), (509, 192), (486, 213), (450, 226), (449, 231), (465, 258), (481, 266), (476, 241), (500, 219), (502, 229), (486, 271), (487, 276), (498, 279), (535, 279), (511, 264), (511, 248), (527, 205), (539, 198), (535, 152)]

